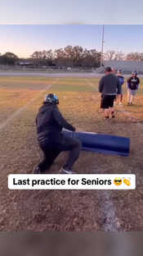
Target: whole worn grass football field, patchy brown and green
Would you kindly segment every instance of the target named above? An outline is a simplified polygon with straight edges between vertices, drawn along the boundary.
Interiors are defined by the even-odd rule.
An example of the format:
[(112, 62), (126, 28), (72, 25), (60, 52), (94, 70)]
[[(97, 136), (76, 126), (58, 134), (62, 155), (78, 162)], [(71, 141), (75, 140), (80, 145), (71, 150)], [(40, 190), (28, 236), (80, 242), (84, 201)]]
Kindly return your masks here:
[[(55, 77), (1, 77), (0, 231), (143, 231), (143, 80), (132, 107), (127, 107), (124, 86), (123, 107), (115, 107), (116, 118), (109, 121), (102, 120), (98, 82), (98, 78), (72, 76), (59, 80)], [(49, 85), (51, 87), (47, 88)], [(42, 158), (35, 117), (44, 96), (50, 92), (59, 96), (60, 111), (74, 126), (131, 139), (129, 157), (81, 152), (75, 171), (134, 173), (136, 190), (7, 189), (10, 173), (31, 173)], [(64, 159), (65, 153), (61, 153), (51, 171), (57, 172)]]

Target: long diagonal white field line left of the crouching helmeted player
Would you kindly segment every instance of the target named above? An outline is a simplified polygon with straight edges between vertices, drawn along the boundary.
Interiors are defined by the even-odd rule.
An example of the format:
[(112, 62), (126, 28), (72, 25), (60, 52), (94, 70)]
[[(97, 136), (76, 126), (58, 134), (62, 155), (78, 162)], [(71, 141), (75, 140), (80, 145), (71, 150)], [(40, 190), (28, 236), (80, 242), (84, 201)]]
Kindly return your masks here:
[(52, 85), (54, 85), (56, 83), (56, 81), (59, 80), (59, 78), (57, 78), (55, 81), (53, 81), (51, 83), (51, 85), (48, 85), (45, 89), (43, 89), (40, 94), (38, 94), (36, 97), (32, 98), (28, 103), (25, 104), (24, 107), (20, 107), (16, 112), (14, 112), (11, 117), (9, 117), (6, 121), (4, 121), (1, 125), (0, 125), (0, 130), (2, 130), (5, 126), (7, 126), (7, 124), (13, 120), (15, 117), (17, 117), (18, 115), (20, 115), (20, 112), (23, 112), (25, 110), (26, 107), (29, 106), (30, 103), (33, 103), (35, 101), (35, 99), (37, 99), (44, 91), (46, 91), (47, 89), (49, 89)]

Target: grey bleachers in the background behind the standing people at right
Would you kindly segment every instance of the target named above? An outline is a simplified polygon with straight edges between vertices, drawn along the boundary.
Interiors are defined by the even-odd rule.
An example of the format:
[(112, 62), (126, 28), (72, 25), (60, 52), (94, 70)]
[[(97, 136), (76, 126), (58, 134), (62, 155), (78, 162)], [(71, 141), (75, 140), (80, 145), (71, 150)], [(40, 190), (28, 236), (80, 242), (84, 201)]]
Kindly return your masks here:
[(102, 71), (99, 73), (105, 72), (105, 67), (110, 66), (114, 68), (116, 71), (118, 69), (122, 69), (124, 74), (131, 74), (132, 71), (137, 71), (138, 74), (143, 74), (143, 61), (141, 62), (127, 62), (127, 61), (103, 61), (103, 68)]

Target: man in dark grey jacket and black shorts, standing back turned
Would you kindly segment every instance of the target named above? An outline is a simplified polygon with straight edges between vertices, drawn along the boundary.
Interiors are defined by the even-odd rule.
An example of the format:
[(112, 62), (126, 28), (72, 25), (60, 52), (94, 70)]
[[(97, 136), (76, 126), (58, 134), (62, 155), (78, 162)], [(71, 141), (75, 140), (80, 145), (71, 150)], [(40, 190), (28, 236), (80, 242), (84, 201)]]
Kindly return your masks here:
[(118, 77), (112, 73), (111, 67), (106, 67), (105, 75), (99, 82), (99, 92), (101, 93), (101, 108), (105, 109), (104, 119), (109, 119), (111, 112), (114, 118), (114, 99), (116, 94), (121, 94), (121, 85)]

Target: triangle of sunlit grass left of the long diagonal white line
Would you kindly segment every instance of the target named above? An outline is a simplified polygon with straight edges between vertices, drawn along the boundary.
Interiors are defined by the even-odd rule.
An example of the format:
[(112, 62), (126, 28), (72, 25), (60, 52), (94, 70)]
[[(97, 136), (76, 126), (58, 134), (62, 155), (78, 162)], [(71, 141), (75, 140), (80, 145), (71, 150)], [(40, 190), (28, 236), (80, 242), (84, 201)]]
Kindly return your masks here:
[(0, 83), (0, 124), (50, 85), (49, 80), (7, 80)]

